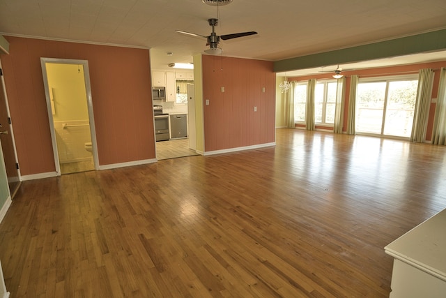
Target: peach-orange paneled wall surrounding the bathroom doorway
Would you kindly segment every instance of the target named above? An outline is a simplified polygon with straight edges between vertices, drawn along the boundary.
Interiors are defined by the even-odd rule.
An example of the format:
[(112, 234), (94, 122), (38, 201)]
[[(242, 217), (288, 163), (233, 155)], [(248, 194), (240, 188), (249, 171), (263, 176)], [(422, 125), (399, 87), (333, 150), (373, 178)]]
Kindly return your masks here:
[(40, 57), (89, 61), (100, 165), (155, 158), (148, 50), (6, 39), (1, 61), (22, 175), (55, 171)]

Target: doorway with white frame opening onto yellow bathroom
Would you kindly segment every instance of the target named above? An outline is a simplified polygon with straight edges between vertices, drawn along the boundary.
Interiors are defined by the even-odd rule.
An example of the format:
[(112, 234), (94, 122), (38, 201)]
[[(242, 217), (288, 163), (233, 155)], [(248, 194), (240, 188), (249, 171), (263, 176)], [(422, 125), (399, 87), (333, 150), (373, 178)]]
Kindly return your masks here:
[(40, 58), (56, 172), (98, 169), (86, 60)]

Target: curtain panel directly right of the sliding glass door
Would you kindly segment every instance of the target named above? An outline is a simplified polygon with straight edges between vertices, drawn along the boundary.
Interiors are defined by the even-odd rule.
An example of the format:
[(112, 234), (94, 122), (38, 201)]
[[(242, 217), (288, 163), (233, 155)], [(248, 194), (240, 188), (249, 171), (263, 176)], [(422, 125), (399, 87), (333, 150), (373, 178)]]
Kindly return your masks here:
[(412, 133), (410, 142), (421, 143), (426, 137), (427, 118), (433, 85), (433, 71), (431, 68), (420, 69), (418, 73), (417, 100), (413, 114)]

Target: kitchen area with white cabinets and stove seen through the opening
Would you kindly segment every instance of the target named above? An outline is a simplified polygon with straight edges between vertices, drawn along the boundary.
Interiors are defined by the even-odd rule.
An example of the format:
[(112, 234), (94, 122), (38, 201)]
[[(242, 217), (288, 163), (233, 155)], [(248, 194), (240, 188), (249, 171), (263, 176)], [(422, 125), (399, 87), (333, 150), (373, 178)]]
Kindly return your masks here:
[(198, 155), (190, 149), (187, 89), (194, 84), (189, 71), (152, 72), (153, 115), (157, 160)]

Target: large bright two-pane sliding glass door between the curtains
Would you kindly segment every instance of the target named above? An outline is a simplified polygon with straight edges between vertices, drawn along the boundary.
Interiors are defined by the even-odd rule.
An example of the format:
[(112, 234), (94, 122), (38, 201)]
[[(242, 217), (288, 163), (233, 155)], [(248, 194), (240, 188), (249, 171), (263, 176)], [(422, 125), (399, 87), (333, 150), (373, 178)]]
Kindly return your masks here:
[(417, 77), (374, 78), (357, 85), (356, 131), (410, 137)]

